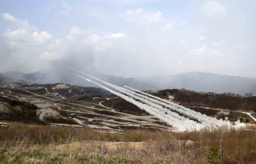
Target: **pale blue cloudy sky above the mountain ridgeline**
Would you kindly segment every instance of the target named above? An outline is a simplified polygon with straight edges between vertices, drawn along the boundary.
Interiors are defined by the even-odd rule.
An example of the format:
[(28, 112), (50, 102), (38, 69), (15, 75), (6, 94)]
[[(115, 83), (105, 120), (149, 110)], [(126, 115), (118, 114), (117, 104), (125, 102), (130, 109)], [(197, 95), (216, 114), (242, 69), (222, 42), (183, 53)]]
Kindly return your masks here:
[[(254, 0), (0, 0), (0, 72), (256, 78)], [(60, 70), (58, 70), (60, 71)]]

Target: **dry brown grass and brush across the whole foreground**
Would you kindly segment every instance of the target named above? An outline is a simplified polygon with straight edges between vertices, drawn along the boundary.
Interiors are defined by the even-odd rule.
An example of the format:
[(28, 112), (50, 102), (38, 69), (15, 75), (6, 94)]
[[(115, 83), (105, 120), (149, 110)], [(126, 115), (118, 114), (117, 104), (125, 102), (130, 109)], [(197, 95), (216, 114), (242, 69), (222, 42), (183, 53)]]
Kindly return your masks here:
[(256, 163), (256, 129), (194, 127), (126, 132), (35, 125), (0, 127), (0, 163)]

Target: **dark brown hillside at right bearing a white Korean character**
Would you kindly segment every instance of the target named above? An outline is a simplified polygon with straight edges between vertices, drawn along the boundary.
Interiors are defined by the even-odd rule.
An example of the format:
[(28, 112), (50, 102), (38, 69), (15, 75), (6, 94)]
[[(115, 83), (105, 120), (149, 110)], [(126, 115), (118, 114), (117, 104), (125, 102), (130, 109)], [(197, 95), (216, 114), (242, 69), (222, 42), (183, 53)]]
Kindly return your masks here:
[(174, 96), (173, 101), (183, 106), (198, 106), (228, 109), (230, 111), (255, 111), (256, 112), (256, 96), (234, 97), (224, 94), (214, 93), (198, 93), (194, 91), (183, 91), (177, 89), (160, 90), (153, 95), (168, 98), (169, 95)]

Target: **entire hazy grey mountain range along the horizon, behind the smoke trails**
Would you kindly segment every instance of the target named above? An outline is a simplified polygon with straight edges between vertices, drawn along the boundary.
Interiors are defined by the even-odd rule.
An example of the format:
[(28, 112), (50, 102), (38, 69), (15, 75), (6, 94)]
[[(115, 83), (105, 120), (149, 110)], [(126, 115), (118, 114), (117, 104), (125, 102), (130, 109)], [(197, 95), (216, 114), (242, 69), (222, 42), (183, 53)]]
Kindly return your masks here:
[[(63, 76), (63, 75), (62, 75)], [(219, 75), (204, 72), (187, 72), (176, 75), (157, 75), (143, 78), (123, 78), (110, 75), (94, 74), (95, 77), (100, 78), (109, 83), (124, 86), (127, 85), (138, 90), (162, 90), (172, 88), (185, 88), (193, 91), (204, 92), (232, 92), (244, 95), (245, 93), (256, 94), (256, 78)], [(0, 79), (8, 78), (13, 81), (22, 80), (24, 83), (52, 83), (48, 79), (47, 74), (40, 72), (22, 73), (18, 71), (11, 71), (0, 73)], [(59, 78), (60, 79), (60, 78)], [(70, 78), (61, 78), (59, 83), (68, 83), (71, 85), (95, 86), (87, 81), (76, 79), (69, 81)], [(54, 81), (56, 82), (56, 81)]]

